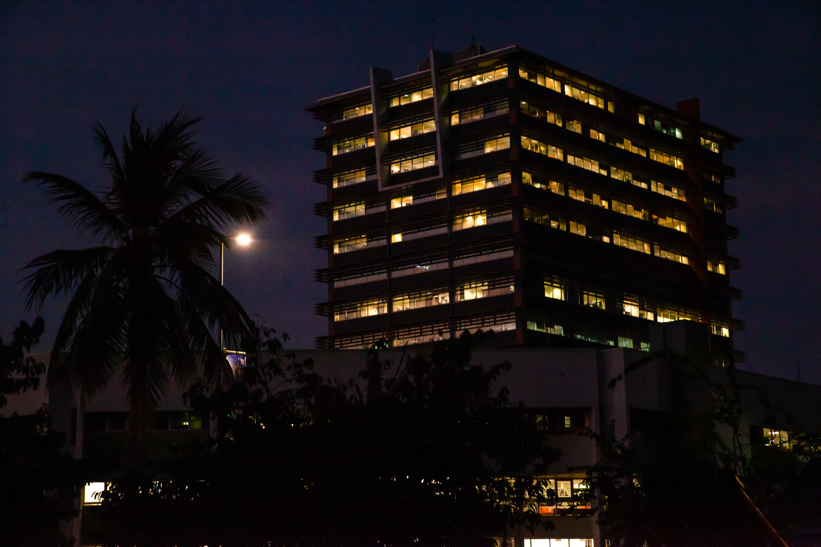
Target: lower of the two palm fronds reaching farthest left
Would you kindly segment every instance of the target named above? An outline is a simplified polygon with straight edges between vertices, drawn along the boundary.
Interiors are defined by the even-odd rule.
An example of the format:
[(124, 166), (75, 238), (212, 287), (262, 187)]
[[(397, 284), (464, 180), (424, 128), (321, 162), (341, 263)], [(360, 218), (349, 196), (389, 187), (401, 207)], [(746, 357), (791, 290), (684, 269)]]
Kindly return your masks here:
[(25, 299), (26, 309), (36, 304), (42, 308), (48, 296), (67, 293), (75, 289), (89, 273), (99, 271), (114, 253), (108, 246), (83, 248), (76, 250), (57, 249), (41, 257), (34, 258), (23, 268), (37, 268), (23, 278), (25, 289), (29, 294)]

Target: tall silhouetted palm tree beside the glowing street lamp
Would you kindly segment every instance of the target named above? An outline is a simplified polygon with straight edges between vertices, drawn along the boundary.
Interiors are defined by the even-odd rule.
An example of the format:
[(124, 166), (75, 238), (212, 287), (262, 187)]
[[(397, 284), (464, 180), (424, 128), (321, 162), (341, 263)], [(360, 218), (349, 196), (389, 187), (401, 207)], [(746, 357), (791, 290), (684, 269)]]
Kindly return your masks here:
[(169, 381), (232, 377), (218, 340), (237, 344), (253, 322), (209, 270), (232, 239), (222, 230), (263, 221), (268, 205), (248, 176), (231, 177), (193, 141), (200, 118), (180, 110), (131, 134), (117, 156), (103, 125), (94, 139), (110, 179), (99, 194), (62, 175), (30, 172), (57, 214), (97, 247), (58, 249), (24, 269), (27, 308), (72, 294), (54, 340), (48, 383), (92, 396), (122, 374), (130, 408), (130, 453), (140, 450), (144, 419)]

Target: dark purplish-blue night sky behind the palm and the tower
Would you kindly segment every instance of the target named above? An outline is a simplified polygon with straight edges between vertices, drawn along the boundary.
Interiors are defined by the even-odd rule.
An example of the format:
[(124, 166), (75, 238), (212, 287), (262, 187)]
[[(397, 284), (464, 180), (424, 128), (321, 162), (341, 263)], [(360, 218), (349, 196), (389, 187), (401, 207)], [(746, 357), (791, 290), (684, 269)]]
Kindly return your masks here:
[[(311, 148), (322, 124), (303, 108), (367, 85), (372, 65), (415, 72), (431, 34), (444, 51), (475, 34), (488, 51), (519, 45), (667, 107), (699, 97), (704, 121), (744, 139), (725, 154), (741, 367), (796, 378), (800, 359), (801, 379), (821, 383), (819, 26), (821, 2), (2, 2), (0, 333), (34, 317), (25, 262), (96, 244), (53, 217), (25, 173), (98, 188), (94, 121), (115, 137), (134, 107), (154, 123), (185, 105), (222, 165), (273, 198), (254, 246), (227, 253), (226, 285), (291, 347), (313, 347), (327, 334), (314, 316), (327, 290), (313, 280), (325, 191), (311, 179), (324, 157)], [(44, 308), (49, 339), (64, 306)]]

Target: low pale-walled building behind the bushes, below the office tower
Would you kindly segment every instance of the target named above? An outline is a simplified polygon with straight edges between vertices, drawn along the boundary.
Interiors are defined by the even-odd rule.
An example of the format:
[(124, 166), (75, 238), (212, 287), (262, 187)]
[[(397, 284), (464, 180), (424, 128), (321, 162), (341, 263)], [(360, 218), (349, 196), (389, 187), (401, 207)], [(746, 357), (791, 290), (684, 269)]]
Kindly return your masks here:
[[(718, 375), (726, 369), (713, 365), (708, 328), (695, 321), (653, 325), (648, 333), (650, 349), (667, 347), (687, 354), (693, 362), (701, 363), (705, 372)], [(402, 352), (388, 349), (383, 357), (397, 362)], [(320, 374), (341, 380), (356, 377), (365, 363), (363, 350), (310, 349), (295, 353), (300, 360), (313, 358)], [(518, 538), (516, 547), (604, 545), (596, 524), (596, 508), (574, 503), (585, 488), (584, 473), (574, 468), (593, 465), (600, 458), (594, 440), (585, 432), (601, 435), (612, 424), (615, 437), (621, 439), (640, 428), (649, 416), (673, 413), (682, 403), (699, 403), (698, 394), (688, 391), (689, 388), (671, 375), (664, 359), (626, 374), (628, 365), (647, 355), (638, 349), (619, 347), (475, 350), (475, 364), (488, 367), (506, 360), (513, 364), (511, 371), (502, 376), (500, 385), (507, 386), (511, 401), (521, 401), (529, 412), (542, 417), (551, 443), (562, 450), (562, 457), (548, 471), (556, 489), (557, 504), (539, 508), (545, 518), (553, 521), (555, 529), (525, 534)], [(620, 375), (624, 381), (617, 381), (611, 387), (612, 380)], [(762, 393), (767, 394), (773, 408), (790, 413), (806, 430), (819, 429), (821, 386), (742, 371), (737, 372), (736, 378), (739, 384), (750, 387), (742, 395), (741, 431), (745, 432), (745, 442), (751, 445), (788, 445), (790, 442), (787, 425), (773, 422), (773, 417), (768, 416), (770, 408), (761, 402)], [(175, 444), (185, 444), (192, 437), (205, 437), (210, 433), (208, 417), (190, 413), (182, 404), (181, 393), (180, 389), (167, 395), (145, 435), (146, 445), (154, 454), (167, 453)], [(41, 400), (30, 399), (32, 394)], [(45, 394), (43, 390), (27, 392), (25, 398), (32, 409), (48, 400), (55, 426), (67, 435), (67, 449), (75, 458), (108, 458), (125, 442), (126, 397), (117, 382), (85, 403), (67, 393)], [(17, 408), (25, 412), (22, 403), (26, 401), (22, 398), (12, 401), (16, 407), (10, 405), (4, 410), (10, 412)], [(81, 517), (72, 526), (80, 538), (77, 545), (94, 545), (93, 538), (87, 538), (83, 531), (94, 526), (97, 501), (93, 494), (102, 486), (89, 484), (80, 496)]]

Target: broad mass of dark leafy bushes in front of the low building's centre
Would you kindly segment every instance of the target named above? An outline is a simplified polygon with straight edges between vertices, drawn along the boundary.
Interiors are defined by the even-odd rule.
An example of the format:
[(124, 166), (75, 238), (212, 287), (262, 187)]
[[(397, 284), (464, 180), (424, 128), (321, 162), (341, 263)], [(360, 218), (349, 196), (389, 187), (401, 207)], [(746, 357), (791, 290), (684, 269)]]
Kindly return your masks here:
[(544, 499), (535, 477), (558, 454), (494, 386), (511, 365), (470, 364), (474, 336), (398, 363), (371, 349), (359, 379), (338, 383), (268, 334), (230, 389), (190, 390), (217, 420), (209, 447), (103, 495), (103, 542), (489, 545), (551, 526), (528, 501)]

